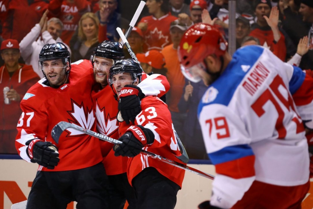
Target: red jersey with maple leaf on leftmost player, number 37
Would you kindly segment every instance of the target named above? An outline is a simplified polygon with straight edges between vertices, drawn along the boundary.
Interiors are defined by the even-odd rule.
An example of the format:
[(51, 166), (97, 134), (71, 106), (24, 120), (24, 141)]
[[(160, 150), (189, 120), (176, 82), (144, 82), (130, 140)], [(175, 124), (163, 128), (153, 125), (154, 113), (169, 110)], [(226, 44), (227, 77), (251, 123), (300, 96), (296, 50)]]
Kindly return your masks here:
[(94, 83), (89, 60), (71, 64), (69, 81), (59, 88), (45, 85), (43, 78), (32, 86), (21, 101), (23, 111), (18, 121), (15, 146), (18, 154), (30, 162), (25, 143), (34, 138), (49, 141), (59, 150), (60, 162), (54, 170), (39, 166), (42, 171), (77, 170), (102, 161), (99, 139), (67, 129), (56, 144), (51, 137), (52, 128), (60, 121), (77, 124), (96, 131), (91, 90)]

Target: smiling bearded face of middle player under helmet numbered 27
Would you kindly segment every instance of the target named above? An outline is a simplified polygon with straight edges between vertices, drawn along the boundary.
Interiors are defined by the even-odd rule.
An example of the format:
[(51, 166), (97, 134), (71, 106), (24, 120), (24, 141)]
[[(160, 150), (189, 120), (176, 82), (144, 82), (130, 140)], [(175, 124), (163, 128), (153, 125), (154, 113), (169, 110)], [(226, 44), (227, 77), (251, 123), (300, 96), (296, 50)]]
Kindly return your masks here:
[(113, 60), (102, 58), (102, 57), (95, 57), (94, 63), (94, 75), (95, 81), (100, 83), (102, 86), (108, 85), (108, 74), (110, 67), (113, 65)]

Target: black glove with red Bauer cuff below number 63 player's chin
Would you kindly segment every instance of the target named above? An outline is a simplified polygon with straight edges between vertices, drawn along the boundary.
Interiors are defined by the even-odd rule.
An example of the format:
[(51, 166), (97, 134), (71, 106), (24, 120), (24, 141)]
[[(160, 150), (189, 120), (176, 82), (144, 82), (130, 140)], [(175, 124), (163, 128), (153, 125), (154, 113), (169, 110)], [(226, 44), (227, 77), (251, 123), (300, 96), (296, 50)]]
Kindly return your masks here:
[[(125, 85), (119, 95), (118, 110), (121, 117), (129, 124), (129, 121), (135, 123), (136, 116), (141, 112), (140, 100), (145, 97), (138, 86)], [(120, 122), (121, 118), (117, 117)]]

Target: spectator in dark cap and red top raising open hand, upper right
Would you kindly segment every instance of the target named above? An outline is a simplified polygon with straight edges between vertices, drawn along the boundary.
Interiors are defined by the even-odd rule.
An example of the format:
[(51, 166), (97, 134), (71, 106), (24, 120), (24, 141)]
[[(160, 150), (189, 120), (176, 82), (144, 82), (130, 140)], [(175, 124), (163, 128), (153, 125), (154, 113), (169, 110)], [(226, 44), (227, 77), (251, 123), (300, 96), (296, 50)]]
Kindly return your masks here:
[(285, 61), (285, 36), (278, 28), (278, 9), (272, 8), (270, 0), (256, 0), (255, 15), (257, 22), (252, 25), (250, 36), (260, 40), (262, 46), (270, 49), (277, 57)]

